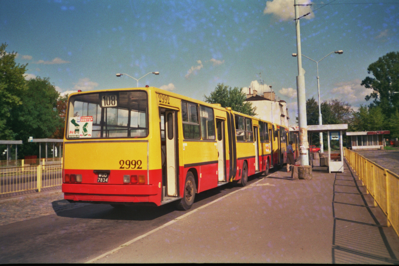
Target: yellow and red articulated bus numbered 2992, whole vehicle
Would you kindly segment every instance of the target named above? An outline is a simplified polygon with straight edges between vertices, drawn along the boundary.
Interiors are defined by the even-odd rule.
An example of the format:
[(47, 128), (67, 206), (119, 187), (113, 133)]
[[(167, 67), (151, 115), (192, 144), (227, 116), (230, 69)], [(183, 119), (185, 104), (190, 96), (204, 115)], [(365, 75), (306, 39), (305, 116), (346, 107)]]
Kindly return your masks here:
[(73, 93), (65, 124), (71, 202), (187, 210), (196, 193), (286, 160), (287, 128), (154, 87)]

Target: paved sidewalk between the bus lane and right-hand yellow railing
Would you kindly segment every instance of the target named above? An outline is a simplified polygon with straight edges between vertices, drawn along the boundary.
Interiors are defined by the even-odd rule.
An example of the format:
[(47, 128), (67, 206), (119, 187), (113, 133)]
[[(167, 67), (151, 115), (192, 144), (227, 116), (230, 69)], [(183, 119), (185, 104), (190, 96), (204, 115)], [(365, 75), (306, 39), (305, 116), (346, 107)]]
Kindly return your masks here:
[(320, 171), (312, 180), (277, 171), (95, 262), (399, 264), (399, 238), (361, 181), (346, 164)]

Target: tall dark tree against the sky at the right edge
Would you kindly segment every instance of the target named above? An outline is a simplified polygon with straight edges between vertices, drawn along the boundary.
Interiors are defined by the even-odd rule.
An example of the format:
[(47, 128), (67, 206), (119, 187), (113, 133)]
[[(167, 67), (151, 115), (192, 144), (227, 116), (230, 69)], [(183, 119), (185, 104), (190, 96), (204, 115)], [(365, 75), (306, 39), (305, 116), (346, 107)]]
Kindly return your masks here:
[(365, 100), (374, 99), (370, 107), (380, 106), (386, 116), (399, 107), (399, 52), (390, 52), (379, 57), (367, 68), (367, 73), (374, 77), (366, 77), (361, 85), (373, 89)]

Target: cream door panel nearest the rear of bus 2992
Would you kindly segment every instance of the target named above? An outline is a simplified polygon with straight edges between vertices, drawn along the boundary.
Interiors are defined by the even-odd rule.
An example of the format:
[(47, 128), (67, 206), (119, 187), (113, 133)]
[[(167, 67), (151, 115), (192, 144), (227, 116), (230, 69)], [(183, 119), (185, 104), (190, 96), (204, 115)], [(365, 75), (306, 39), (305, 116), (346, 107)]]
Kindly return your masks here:
[[(165, 140), (166, 140), (166, 197), (177, 197), (177, 148), (176, 140), (176, 111), (165, 112)], [(163, 184), (164, 185), (164, 184)]]

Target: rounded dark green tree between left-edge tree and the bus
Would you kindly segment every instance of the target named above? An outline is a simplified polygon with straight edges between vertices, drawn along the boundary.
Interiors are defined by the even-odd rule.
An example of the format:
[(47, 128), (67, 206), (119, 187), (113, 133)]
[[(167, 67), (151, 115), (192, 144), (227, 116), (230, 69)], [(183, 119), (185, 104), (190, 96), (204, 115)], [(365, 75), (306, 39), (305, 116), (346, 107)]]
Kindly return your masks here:
[[(64, 126), (57, 110), (59, 93), (48, 78), (30, 79), (26, 81), (27, 90), (21, 96), (23, 104), (12, 110), (10, 126), (16, 138), (26, 142), (30, 136), (34, 138), (51, 138), (57, 128)], [(34, 143), (22, 145), (18, 154), (38, 154), (38, 146)]]

